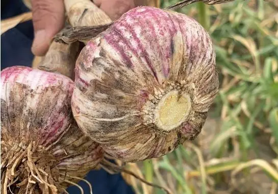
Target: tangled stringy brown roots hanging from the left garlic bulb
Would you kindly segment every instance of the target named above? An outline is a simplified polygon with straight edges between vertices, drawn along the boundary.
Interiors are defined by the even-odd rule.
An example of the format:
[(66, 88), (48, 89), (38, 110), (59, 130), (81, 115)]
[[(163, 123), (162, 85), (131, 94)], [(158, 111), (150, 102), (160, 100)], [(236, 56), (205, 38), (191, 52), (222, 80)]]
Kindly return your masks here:
[[(55, 175), (53, 176), (51, 173), (51, 169), (54, 167), (54, 166), (52, 166), (53, 162), (41, 163), (42, 161), (45, 161), (46, 158), (51, 160), (52, 157), (49, 156), (47, 153), (45, 153), (42, 149), (37, 149), (37, 146), (34, 142), (31, 142), (29, 144), (29, 146), (27, 146), (27, 147), (24, 146), (22, 143), (19, 143), (17, 145), (18, 145), (18, 148), (20, 148), (20, 151), (18, 152), (18, 153), (20, 153), (19, 157), (18, 157), (18, 153), (14, 152), (14, 150), (7, 148), (1, 144), (1, 147), (4, 146), (6, 149), (10, 150), (6, 154), (7, 154), (7, 156), (10, 156), (8, 158), (8, 160), (11, 161), (11, 162), (8, 162), (8, 164), (6, 164), (6, 165), (4, 164), (3, 166), (1, 166), (1, 168), (6, 167), (5, 181), (3, 184), (3, 192), (8, 193), (8, 187), (10, 187), (15, 182), (17, 182), (17, 180), (20, 179), (19, 177), (21, 177), (22, 175), (24, 176), (26, 174), (28, 174), (28, 175), (31, 174), (32, 178), (31, 179), (29, 178), (28, 182), (24, 181), (24, 180), (26, 180), (26, 179), (24, 179), (21, 183), (17, 183), (17, 185), (20, 185), (22, 187), (28, 183), (31, 183), (31, 184), (37, 183), (38, 185), (40, 185), (43, 193), (47, 193), (46, 190), (48, 189), (48, 187), (50, 188), (52, 193), (58, 193), (57, 187), (53, 183), (50, 183), (48, 181), (48, 180), (53, 179), (53, 177), (55, 177)], [(24, 160), (24, 162), (21, 162), (22, 160)], [(36, 164), (35, 164), (35, 162), (36, 162)], [(47, 164), (50, 164), (50, 166)], [(11, 166), (11, 167), (9, 167), (9, 166)], [(15, 171), (15, 168), (16, 168), (16, 171)], [(43, 179), (41, 173), (39, 173), (38, 168), (41, 171), (43, 168), (44, 171), (49, 172), (48, 174), (46, 174), (46, 177), (47, 177), (46, 180)], [(8, 180), (12, 180), (12, 183), (10, 183), (9, 185), (7, 185)], [(15, 188), (15, 187), (13, 187), (13, 189), (18, 190), (18, 188)], [(28, 189), (28, 187), (27, 187), (27, 189)]]

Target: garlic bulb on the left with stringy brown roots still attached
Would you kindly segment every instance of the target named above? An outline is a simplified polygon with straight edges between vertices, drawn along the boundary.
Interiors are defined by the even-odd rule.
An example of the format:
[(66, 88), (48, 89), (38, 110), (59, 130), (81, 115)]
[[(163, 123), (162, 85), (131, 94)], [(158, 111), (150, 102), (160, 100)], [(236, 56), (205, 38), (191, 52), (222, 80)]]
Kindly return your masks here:
[(60, 193), (103, 159), (73, 119), (69, 78), (13, 66), (1, 71), (1, 191)]

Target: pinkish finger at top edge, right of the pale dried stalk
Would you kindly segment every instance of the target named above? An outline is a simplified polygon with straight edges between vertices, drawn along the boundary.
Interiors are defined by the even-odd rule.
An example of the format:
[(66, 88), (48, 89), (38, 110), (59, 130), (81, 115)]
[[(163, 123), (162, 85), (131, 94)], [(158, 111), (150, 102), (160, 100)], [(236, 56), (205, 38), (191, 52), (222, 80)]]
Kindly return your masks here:
[(134, 0), (103, 0), (100, 3), (99, 8), (102, 9), (112, 20), (116, 20), (123, 13), (135, 8), (135, 3)]

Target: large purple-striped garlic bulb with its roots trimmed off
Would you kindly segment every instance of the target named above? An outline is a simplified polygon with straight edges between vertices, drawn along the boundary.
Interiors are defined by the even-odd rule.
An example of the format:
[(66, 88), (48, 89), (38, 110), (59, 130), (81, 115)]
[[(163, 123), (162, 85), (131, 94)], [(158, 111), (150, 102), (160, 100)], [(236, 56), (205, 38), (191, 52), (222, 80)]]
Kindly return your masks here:
[(218, 86), (213, 43), (197, 21), (138, 7), (83, 48), (72, 112), (105, 152), (137, 162), (194, 139)]

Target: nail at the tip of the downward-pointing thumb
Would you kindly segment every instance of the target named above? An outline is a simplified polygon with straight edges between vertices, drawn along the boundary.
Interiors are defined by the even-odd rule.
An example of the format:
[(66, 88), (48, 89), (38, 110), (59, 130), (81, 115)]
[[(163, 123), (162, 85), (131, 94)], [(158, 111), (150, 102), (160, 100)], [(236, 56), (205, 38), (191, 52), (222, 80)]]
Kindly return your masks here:
[(46, 32), (45, 30), (39, 30), (35, 33), (33, 45), (32, 45), (32, 53), (36, 56), (44, 55), (48, 48), (48, 43), (46, 40)]

